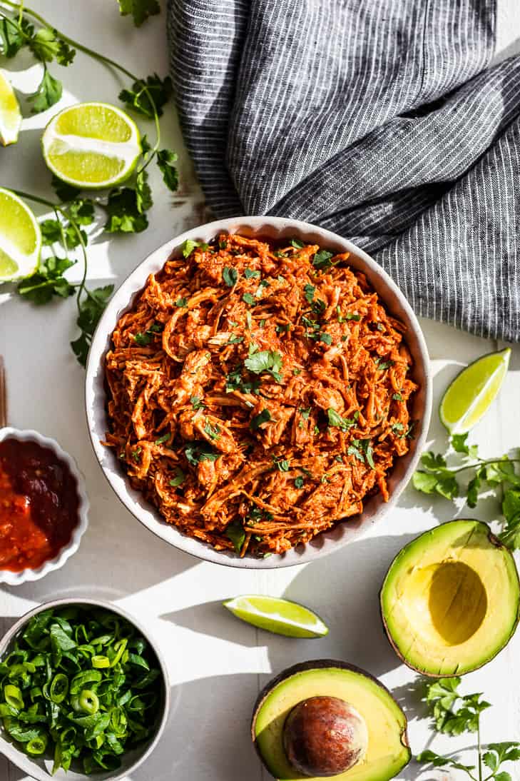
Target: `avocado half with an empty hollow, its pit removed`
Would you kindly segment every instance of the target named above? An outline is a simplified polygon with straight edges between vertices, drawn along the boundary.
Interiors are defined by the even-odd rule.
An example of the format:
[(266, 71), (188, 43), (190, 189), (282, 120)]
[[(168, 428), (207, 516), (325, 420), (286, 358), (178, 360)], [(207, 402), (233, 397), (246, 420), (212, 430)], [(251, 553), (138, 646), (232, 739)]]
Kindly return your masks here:
[(486, 523), (443, 523), (397, 554), (380, 601), (386, 635), (408, 667), (437, 678), (463, 675), (515, 632), (515, 560)]

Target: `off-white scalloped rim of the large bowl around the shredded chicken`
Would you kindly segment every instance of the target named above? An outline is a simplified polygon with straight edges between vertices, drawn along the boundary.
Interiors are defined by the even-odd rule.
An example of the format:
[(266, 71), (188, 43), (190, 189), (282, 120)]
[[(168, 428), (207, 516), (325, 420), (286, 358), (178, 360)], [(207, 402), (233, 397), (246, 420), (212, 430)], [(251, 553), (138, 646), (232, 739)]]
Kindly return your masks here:
[[(102, 445), (102, 440), (105, 438), (105, 432), (108, 427), (105, 410), (105, 355), (109, 350), (110, 334), (115, 328), (119, 317), (126, 309), (130, 308), (134, 296), (144, 287), (148, 274), (162, 269), (169, 255), (179, 251), (184, 241), (187, 239), (211, 241), (219, 233), (239, 233), (246, 236), (259, 235), (271, 239), (292, 237), (312, 244), (319, 244), (322, 248), (351, 252), (349, 259), (351, 266), (365, 273), (370, 284), (372, 284), (372, 287), (386, 305), (386, 308), (407, 326), (406, 341), (414, 359), (413, 377), (419, 386), (418, 392), (414, 395), (413, 409), (411, 411), (412, 419), (418, 421), (415, 428), (416, 436), (411, 441), (410, 451), (407, 455), (397, 459), (395, 468), (389, 477), (390, 501), (385, 503), (379, 494), (371, 497), (366, 501), (365, 508), (358, 517), (338, 523), (333, 529), (319, 534), (305, 547), (299, 545), (283, 555), (273, 555), (269, 556), (269, 558), (248, 556), (240, 558), (232, 552), (215, 551), (208, 544), (195, 540), (192, 537), (186, 537), (180, 533), (175, 526), (162, 520), (155, 508), (148, 504), (137, 490), (130, 487), (116, 455), (114, 455), (111, 448), (106, 448)], [(94, 333), (87, 362), (85, 401), (88, 428), (91, 433), (94, 451), (102, 466), (102, 470), (119, 499), (123, 502), (123, 505), (144, 526), (181, 551), (198, 556), (198, 558), (207, 559), (216, 564), (245, 569), (276, 569), (277, 567), (310, 562), (315, 558), (337, 550), (337, 548), (353, 540), (357, 540), (365, 534), (369, 526), (381, 519), (393, 507), (397, 497), (401, 494), (401, 490), (403, 490), (414, 473), (418, 458), (425, 445), (432, 406), (432, 388), (428, 352), (417, 318), (404, 295), (394, 284), (394, 281), (366, 252), (356, 247), (351, 241), (347, 241), (347, 239), (337, 236), (337, 234), (333, 234), (329, 230), (323, 230), (308, 223), (301, 223), (298, 220), (284, 219), (282, 217), (237, 217), (222, 219), (193, 230), (188, 230), (186, 233), (167, 242), (167, 244), (163, 244), (162, 247), (148, 255), (148, 258), (140, 263), (134, 272), (123, 282), (109, 301), (109, 305), (105, 309), (98, 328)]]

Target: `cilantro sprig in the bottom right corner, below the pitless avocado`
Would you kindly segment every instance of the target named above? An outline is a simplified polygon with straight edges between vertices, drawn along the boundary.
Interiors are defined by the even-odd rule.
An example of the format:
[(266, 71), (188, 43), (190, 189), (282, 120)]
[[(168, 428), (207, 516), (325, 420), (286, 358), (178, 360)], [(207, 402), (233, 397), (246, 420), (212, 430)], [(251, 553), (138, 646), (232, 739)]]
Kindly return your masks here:
[[(480, 736), (480, 715), (490, 703), (482, 699), (483, 694), (460, 694), (461, 679), (443, 678), (426, 683), (424, 701), (433, 716), (437, 732), (449, 735), (461, 733), (477, 734), (477, 761), (475, 765), (464, 765), (458, 758), (422, 751), (416, 760), (422, 765), (434, 768), (454, 768), (465, 772), (472, 781), (512, 781), (511, 774), (502, 770), (505, 762), (520, 759), (520, 743), (504, 741), (482, 746)], [(484, 770), (486, 767), (490, 772)]]

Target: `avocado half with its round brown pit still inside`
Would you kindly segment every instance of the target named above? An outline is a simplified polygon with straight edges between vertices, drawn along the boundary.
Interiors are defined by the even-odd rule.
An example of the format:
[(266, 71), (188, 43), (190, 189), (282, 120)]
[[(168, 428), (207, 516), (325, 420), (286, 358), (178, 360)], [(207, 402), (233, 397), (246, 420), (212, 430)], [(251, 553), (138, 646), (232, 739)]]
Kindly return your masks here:
[[(333, 712), (329, 701), (333, 701)], [(338, 703), (343, 703), (343, 713)], [(315, 718), (319, 706), (318, 718), (308, 721), (307, 730), (306, 706), (308, 719)], [(354, 719), (350, 725), (351, 740), (357, 740), (357, 750), (338, 745), (337, 729), (327, 731), (325, 743), (321, 738), (315, 741), (318, 749), (309, 745), (309, 732), (312, 737), (314, 725), (322, 728), (324, 720), (330, 725), (338, 710), (340, 718), (343, 715)], [(278, 781), (323, 777), (337, 781), (389, 781), (411, 758), (406, 725), (403, 711), (376, 678), (354, 665), (323, 659), (294, 665), (265, 686), (253, 711), (251, 737), (266, 769)], [(344, 735), (348, 733), (347, 724)], [(335, 735), (330, 745), (329, 734)], [(331, 754), (334, 761), (346, 760), (351, 766), (343, 772), (331, 772), (333, 765), (324, 761), (320, 769), (322, 757), (330, 759)], [(306, 772), (301, 772), (305, 765)], [(312, 775), (310, 769), (318, 772)]]

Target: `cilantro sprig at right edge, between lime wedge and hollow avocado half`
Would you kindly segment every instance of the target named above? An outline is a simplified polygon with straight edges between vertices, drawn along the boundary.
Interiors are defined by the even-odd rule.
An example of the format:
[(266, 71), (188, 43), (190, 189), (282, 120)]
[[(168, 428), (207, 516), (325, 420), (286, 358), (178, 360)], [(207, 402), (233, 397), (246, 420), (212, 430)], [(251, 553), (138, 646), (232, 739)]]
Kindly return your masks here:
[[(468, 507), (475, 508), (479, 493), (484, 488), (502, 493), (502, 514), (504, 525), (500, 540), (511, 549), (520, 547), (520, 458), (502, 455), (499, 458), (480, 458), (478, 446), (467, 442), (468, 434), (455, 434), (450, 444), (454, 454), (463, 462), (454, 467), (447, 465), (446, 455), (427, 451), (421, 456), (422, 469), (413, 476), (413, 485), (423, 494), (440, 494), (453, 501), (461, 494), (459, 473), (470, 473), (471, 479), (465, 487)], [(469, 462), (468, 462), (469, 461)]]

